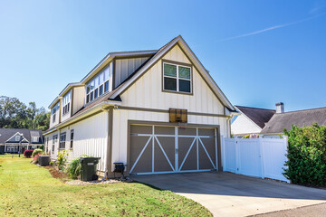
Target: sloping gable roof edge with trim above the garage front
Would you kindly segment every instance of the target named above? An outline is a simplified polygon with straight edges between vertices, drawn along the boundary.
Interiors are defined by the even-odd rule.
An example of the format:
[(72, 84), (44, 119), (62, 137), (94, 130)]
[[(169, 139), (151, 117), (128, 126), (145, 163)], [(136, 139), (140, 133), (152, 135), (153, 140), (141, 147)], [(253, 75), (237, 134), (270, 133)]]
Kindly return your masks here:
[(171, 48), (173, 48), (176, 44), (181, 47), (181, 49), (187, 55), (188, 59), (195, 64), (197, 71), (202, 75), (203, 79), (206, 80), (208, 86), (213, 90), (218, 99), (221, 100), (222, 104), (229, 109), (234, 109), (230, 101), (225, 97), (225, 94), (217, 86), (215, 80), (213, 80), (209, 72), (206, 71), (203, 64), (197, 59), (197, 56), (194, 52), (191, 51), (191, 49), (183, 40), (181, 35), (178, 35), (176, 38), (172, 39), (170, 42), (161, 47), (157, 53), (155, 53), (151, 58), (149, 58), (149, 61), (146, 61), (145, 64), (139, 67), (139, 69), (132, 74), (132, 77), (130, 77), (128, 80), (125, 80), (125, 82), (122, 82), (120, 86), (116, 89), (116, 91), (111, 95), (110, 99), (115, 99), (124, 90), (127, 90), (133, 84), (134, 81), (138, 80), (146, 71), (148, 71), (151, 66), (153, 66), (157, 61), (159, 61), (159, 59), (163, 57), (163, 55), (167, 53)]

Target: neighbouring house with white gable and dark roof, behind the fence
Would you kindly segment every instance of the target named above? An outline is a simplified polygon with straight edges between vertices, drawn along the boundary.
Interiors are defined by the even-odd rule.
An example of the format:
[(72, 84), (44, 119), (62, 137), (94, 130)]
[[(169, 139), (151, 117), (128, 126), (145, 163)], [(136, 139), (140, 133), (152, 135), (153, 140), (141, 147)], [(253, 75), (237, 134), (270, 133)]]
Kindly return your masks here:
[(235, 137), (260, 134), (265, 124), (273, 117), (275, 110), (235, 106), (240, 115), (231, 124), (231, 133)]

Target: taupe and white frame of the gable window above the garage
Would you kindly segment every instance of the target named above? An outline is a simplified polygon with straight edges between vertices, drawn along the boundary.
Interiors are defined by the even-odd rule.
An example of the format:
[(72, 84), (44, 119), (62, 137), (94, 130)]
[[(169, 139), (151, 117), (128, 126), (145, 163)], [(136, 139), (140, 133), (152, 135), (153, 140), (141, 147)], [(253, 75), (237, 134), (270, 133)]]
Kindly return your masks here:
[[(171, 77), (171, 76), (164, 75), (164, 64), (177, 66), (177, 77)], [(190, 81), (190, 92), (185, 92), (185, 91), (180, 91), (179, 90), (179, 80), (188, 80), (188, 79), (179, 78), (179, 74), (178, 74), (179, 66), (190, 69), (190, 79), (189, 79), (189, 81)], [(170, 78), (170, 79), (177, 80), (177, 90), (165, 90), (165, 88), (164, 88), (164, 84), (165, 84), (164, 78)], [(193, 67), (192, 67), (191, 64), (188, 64), (188, 63), (185, 63), (185, 62), (179, 62), (179, 61), (162, 60), (162, 92), (194, 95), (193, 83), (194, 83), (194, 76), (193, 76)]]

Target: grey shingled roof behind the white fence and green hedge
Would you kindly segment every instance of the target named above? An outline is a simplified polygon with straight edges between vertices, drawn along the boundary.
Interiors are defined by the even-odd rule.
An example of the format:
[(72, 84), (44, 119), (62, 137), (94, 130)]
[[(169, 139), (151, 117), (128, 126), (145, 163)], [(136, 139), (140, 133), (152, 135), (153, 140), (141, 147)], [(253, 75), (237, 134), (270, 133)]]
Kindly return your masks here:
[(276, 113), (263, 128), (261, 134), (283, 133), (283, 129), (311, 126), (312, 123), (326, 125), (326, 108), (306, 109), (284, 113)]

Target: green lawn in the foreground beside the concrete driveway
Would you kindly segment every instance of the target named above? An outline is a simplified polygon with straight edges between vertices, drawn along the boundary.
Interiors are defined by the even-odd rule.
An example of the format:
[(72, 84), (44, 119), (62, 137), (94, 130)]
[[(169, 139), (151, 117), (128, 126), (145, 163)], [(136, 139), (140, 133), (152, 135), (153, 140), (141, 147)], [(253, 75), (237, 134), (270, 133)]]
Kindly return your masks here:
[(30, 160), (0, 158), (0, 216), (211, 216), (199, 203), (145, 184), (63, 184)]

